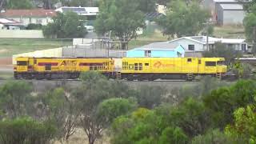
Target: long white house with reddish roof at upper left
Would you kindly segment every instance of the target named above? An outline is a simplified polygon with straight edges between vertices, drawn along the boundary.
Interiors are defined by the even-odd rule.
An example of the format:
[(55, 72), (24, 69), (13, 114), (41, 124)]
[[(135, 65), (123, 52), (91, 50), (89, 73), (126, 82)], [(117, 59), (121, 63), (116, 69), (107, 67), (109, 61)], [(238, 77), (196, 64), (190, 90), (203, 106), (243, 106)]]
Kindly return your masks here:
[(6, 10), (0, 14), (2, 18), (8, 18), (16, 22), (21, 22), (25, 26), (30, 23), (47, 25), (52, 22), (52, 18), (56, 16), (54, 10)]

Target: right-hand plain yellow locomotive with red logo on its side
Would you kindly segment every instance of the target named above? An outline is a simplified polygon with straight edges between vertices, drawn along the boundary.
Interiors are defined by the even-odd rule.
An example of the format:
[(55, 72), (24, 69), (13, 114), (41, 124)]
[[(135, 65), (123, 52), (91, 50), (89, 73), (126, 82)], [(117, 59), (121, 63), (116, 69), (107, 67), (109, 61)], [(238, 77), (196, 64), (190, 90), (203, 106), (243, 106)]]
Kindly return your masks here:
[(186, 78), (226, 73), (224, 58), (122, 58), (122, 78), (128, 80)]

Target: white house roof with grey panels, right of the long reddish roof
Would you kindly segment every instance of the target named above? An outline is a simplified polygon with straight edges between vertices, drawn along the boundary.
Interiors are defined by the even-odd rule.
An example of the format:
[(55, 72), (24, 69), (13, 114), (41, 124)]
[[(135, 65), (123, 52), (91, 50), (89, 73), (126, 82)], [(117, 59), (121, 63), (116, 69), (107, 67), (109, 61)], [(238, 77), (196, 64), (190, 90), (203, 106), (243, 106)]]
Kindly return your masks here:
[(79, 15), (97, 15), (98, 14), (98, 7), (68, 7), (63, 6), (56, 11), (66, 13), (68, 11), (73, 11), (74, 13), (77, 13)]

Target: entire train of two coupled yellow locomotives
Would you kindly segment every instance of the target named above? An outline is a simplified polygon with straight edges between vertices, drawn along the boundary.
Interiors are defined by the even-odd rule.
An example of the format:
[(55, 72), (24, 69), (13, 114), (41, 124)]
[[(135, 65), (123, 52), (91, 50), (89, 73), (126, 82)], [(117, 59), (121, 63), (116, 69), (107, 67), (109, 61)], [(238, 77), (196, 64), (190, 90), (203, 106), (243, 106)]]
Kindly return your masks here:
[(97, 70), (109, 78), (127, 80), (192, 80), (197, 75), (221, 78), (227, 70), (224, 58), (122, 58), (120, 62), (114, 58), (16, 58), (16, 61), (14, 78), (18, 79), (74, 79), (81, 72)]

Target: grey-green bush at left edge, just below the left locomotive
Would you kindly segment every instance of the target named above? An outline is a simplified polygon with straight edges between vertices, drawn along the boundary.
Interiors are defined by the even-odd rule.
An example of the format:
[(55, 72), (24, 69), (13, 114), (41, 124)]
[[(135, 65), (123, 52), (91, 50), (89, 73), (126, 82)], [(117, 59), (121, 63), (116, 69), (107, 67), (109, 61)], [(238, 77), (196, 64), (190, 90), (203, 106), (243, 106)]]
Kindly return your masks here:
[(27, 82), (6, 82), (0, 87), (0, 109), (10, 118), (26, 114), (32, 86)]

